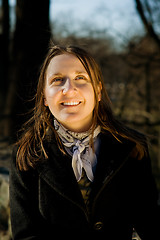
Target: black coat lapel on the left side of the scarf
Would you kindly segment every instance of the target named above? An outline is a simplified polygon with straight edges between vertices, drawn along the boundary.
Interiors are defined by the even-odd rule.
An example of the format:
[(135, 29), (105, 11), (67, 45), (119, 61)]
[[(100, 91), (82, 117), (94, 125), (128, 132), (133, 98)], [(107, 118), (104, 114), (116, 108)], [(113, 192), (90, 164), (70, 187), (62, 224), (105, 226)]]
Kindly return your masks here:
[(64, 155), (58, 149), (56, 142), (49, 143), (48, 159), (38, 167), (38, 172), (40, 177), (55, 191), (80, 207), (84, 207), (84, 201), (72, 170), (71, 157)]

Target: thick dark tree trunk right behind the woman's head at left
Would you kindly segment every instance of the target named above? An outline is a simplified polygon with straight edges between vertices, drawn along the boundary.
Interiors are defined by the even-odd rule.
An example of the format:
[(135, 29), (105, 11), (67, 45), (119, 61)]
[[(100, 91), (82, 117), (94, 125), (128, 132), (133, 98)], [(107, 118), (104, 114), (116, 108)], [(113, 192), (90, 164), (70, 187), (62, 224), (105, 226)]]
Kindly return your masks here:
[(10, 87), (6, 112), (12, 116), (12, 134), (27, 120), (26, 112), (36, 92), (38, 73), (48, 49), (49, 0), (17, 0)]

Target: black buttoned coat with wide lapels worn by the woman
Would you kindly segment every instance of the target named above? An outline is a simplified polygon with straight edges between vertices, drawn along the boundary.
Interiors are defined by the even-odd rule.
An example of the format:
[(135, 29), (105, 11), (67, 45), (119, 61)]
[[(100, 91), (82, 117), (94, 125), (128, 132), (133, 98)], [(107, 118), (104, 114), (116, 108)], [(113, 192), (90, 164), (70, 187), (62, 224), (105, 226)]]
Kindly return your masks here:
[[(49, 158), (36, 169), (10, 172), (13, 239), (97, 236), (129, 240), (133, 228), (142, 240), (160, 239), (157, 190), (149, 156), (138, 160), (135, 144), (100, 134), (100, 151), (87, 211), (71, 157), (56, 141), (47, 142)], [(76, 233), (76, 235), (75, 235)], [(91, 239), (91, 238), (89, 238)]]

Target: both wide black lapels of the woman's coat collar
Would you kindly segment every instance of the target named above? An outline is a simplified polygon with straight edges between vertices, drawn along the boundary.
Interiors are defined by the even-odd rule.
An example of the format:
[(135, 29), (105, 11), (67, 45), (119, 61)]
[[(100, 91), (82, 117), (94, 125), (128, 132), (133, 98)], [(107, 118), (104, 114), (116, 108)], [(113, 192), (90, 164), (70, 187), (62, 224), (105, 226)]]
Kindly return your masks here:
[[(122, 143), (118, 142), (109, 132), (101, 133), (99, 139), (100, 149), (95, 180), (92, 183), (92, 196), (101, 189), (107, 176), (114, 174), (123, 164), (135, 146), (133, 142), (124, 139)], [(47, 149), (48, 159), (37, 167), (40, 177), (66, 199), (84, 208), (84, 201), (72, 170), (71, 157), (58, 149), (54, 137), (48, 141)]]

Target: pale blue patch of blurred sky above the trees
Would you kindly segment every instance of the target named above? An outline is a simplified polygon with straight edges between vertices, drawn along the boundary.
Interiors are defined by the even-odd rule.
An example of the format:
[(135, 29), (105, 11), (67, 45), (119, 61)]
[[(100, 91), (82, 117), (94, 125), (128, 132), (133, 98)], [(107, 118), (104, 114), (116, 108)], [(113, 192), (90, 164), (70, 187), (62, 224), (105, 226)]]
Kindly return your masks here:
[[(143, 33), (134, 0), (50, 0), (52, 22), (65, 25), (70, 32), (90, 28), (105, 30), (112, 37), (130, 38)], [(85, 31), (84, 31), (85, 32)]]

